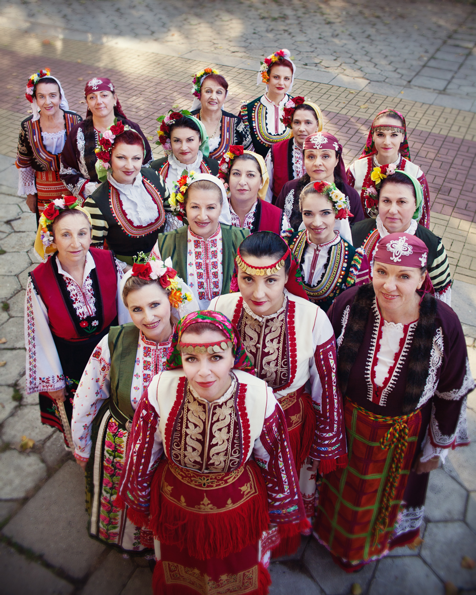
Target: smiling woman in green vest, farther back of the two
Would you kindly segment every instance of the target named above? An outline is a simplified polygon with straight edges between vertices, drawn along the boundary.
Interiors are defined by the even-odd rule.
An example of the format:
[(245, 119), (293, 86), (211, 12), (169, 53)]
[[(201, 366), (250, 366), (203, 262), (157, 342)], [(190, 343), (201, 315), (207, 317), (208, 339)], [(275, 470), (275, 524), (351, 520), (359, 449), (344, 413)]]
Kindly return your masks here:
[(230, 291), (236, 250), (249, 231), (223, 223), (231, 220), (230, 206), (223, 182), (215, 176), (182, 176), (169, 202), (186, 225), (160, 233), (152, 254), (172, 259), (200, 308), (206, 309), (210, 300)]

